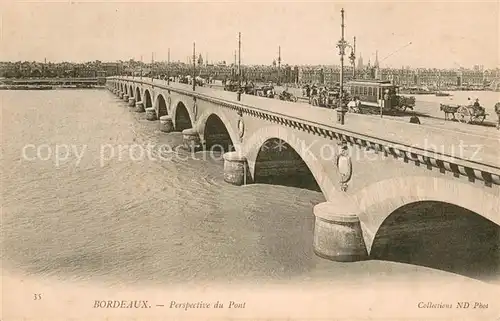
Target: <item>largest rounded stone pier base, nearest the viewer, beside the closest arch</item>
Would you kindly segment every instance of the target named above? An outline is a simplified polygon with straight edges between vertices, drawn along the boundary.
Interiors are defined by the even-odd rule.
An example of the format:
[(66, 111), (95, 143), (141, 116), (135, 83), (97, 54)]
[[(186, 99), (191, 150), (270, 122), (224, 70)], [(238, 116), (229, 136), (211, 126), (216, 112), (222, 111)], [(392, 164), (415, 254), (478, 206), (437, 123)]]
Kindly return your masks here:
[(314, 207), (314, 253), (339, 262), (366, 260), (368, 252), (359, 222), (359, 209), (343, 193)]

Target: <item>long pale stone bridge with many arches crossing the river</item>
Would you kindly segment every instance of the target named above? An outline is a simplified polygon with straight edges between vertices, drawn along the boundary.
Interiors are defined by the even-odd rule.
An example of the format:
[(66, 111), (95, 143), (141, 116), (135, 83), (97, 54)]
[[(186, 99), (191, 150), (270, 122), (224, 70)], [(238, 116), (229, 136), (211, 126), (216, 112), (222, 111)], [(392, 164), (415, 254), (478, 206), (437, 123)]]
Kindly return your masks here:
[[(391, 214), (448, 204), (500, 225), (499, 137), (347, 114), (162, 80), (107, 79), (107, 87), (192, 149), (224, 151), (225, 181), (241, 185), (308, 177), (326, 202), (314, 207), (314, 250), (337, 261), (370, 256)], [(498, 235), (497, 235), (498, 237)]]

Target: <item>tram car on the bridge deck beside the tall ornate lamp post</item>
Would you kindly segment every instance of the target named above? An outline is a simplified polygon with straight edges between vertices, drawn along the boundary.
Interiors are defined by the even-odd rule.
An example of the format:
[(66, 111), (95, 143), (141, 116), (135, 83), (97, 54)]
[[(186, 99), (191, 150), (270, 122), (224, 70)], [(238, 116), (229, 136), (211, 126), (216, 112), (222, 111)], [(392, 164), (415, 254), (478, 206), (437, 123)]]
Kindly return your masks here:
[(386, 80), (353, 80), (346, 84), (351, 97), (360, 101), (361, 113), (405, 111), (415, 107), (415, 97), (399, 94), (399, 87)]

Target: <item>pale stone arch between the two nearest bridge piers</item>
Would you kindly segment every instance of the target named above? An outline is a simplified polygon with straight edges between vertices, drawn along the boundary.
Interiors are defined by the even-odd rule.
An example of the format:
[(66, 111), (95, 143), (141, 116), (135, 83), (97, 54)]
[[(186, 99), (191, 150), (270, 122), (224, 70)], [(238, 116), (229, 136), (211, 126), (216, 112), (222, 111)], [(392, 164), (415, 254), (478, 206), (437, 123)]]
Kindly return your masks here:
[[(275, 149), (276, 152), (288, 153), (286, 154), (288, 158), (285, 159), (284, 163), (273, 163), (276, 157), (274, 157), (274, 155), (266, 155), (265, 153), (260, 155), (263, 158), (258, 158), (262, 149), (264, 149), (264, 151), (266, 149)], [(271, 171), (271, 174), (272, 172), (278, 173), (278, 169), (281, 170), (280, 167), (290, 165), (290, 168), (285, 172), (291, 173), (293, 172), (293, 168), (296, 167), (299, 169), (299, 174), (303, 174), (304, 178), (309, 177), (310, 173), (312, 178), (314, 178), (314, 182), (310, 177), (308, 179), (307, 183), (309, 183), (310, 189), (318, 188), (327, 200), (334, 198), (337, 193), (338, 189), (333, 182), (338, 182), (338, 175), (332, 172), (331, 169), (325, 168), (320, 160), (314, 155), (313, 151), (304, 143), (304, 140), (295, 136), (288, 128), (270, 125), (258, 129), (245, 140), (242, 146), (242, 153), (246, 155), (250, 174), (254, 180), (256, 178), (257, 181), (262, 180), (261, 176), (266, 176), (265, 171)], [(268, 164), (262, 163), (268, 160)], [(281, 180), (281, 177), (278, 177), (278, 180)], [(264, 179), (264, 181), (266, 181), (266, 179)], [(285, 185), (291, 184), (287, 183)]]

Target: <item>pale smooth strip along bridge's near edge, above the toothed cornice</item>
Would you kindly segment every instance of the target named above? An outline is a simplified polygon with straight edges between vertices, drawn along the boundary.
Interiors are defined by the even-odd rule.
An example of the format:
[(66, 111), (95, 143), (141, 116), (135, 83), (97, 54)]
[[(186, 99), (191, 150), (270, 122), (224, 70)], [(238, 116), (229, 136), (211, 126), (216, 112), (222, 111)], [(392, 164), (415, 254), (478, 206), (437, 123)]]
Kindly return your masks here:
[[(168, 88), (167, 81), (140, 77), (127, 77), (144, 84)], [(192, 92), (192, 85), (170, 82), (169, 87)], [(460, 132), (452, 129), (428, 125), (409, 124), (406, 121), (380, 118), (370, 115), (347, 113), (345, 124), (337, 123), (336, 111), (321, 107), (285, 102), (277, 99), (241, 95), (237, 101), (236, 93), (196, 87), (196, 93), (222, 99), (231, 103), (242, 104), (280, 116), (307, 121), (314, 125), (335, 129), (347, 134), (361, 134), (372, 141), (391, 142), (393, 146), (410, 146), (418, 153), (442, 154), (453, 158), (457, 164), (473, 163), (474, 168), (500, 174), (500, 136), (483, 136)], [(411, 129), (411, 130), (408, 130)]]

